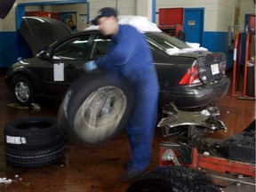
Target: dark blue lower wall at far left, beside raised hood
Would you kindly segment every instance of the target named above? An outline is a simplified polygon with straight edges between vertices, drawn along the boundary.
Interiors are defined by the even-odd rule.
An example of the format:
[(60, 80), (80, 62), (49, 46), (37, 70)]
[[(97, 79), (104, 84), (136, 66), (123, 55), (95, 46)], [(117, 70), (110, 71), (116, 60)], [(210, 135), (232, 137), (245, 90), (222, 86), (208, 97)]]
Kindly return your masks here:
[(16, 32), (0, 32), (0, 68), (8, 68), (17, 60)]

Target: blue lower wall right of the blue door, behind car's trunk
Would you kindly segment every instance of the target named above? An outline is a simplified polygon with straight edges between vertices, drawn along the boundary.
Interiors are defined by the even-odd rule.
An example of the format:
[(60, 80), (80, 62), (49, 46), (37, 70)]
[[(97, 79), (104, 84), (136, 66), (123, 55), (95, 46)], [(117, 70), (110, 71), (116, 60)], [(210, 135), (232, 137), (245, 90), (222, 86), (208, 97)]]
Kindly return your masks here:
[(202, 46), (211, 52), (225, 52), (227, 68), (233, 67), (233, 51), (228, 51), (228, 32), (204, 32)]

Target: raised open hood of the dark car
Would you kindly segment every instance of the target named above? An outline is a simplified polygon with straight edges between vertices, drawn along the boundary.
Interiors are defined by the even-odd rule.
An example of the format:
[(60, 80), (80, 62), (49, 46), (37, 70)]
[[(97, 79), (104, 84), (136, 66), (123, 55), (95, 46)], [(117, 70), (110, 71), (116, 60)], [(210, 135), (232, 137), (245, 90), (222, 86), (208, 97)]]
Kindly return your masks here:
[(72, 34), (59, 20), (43, 17), (23, 17), (20, 33), (27, 41), (34, 56), (50, 44)]

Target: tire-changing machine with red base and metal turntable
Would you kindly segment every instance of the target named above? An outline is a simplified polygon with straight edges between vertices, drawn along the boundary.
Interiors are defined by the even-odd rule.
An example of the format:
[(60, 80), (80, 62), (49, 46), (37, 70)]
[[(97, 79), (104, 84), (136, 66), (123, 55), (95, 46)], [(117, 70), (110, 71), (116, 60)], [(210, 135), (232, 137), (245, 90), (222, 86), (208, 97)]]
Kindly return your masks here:
[[(227, 131), (226, 126), (217, 119), (220, 115), (219, 108), (212, 105), (201, 113), (179, 111), (171, 103), (165, 110), (165, 114), (168, 116), (157, 125), (162, 129), (164, 137), (173, 136), (173, 130), (179, 132), (177, 128), (180, 125), (187, 125), (188, 138), (185, 142), (184, 138), (175, 140), (177, 139), (175, 137), (161, 142), (160, 166), (182, 165), (204, 171), (210, 176), (212, 182), (220, 187), (228, 187), (234, 183), (256, 186), (255, 158), (253, 163), (247, 163), (223, 157), (214, 150), (220, 140), (205, 137), (208, 133)], [(178, 137), (180, 137), (180, 132)]]

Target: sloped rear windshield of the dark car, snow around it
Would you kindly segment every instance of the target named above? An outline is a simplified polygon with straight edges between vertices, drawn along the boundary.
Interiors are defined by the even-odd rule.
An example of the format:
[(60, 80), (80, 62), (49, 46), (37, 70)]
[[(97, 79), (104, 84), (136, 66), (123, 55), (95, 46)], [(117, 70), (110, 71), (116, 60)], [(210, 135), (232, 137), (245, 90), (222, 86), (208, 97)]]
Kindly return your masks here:
[(153, 44), (158, 49), (166, 52), (168, 49), (178, 48), (185, 49), (189, 48), (188, 44), (180, 41), (178, 38), (173, 36), (168, 36), (164, 33), (147, 33), (146, 34), (148, 43)]

